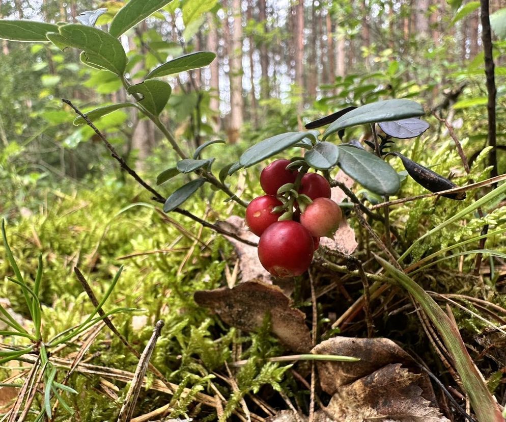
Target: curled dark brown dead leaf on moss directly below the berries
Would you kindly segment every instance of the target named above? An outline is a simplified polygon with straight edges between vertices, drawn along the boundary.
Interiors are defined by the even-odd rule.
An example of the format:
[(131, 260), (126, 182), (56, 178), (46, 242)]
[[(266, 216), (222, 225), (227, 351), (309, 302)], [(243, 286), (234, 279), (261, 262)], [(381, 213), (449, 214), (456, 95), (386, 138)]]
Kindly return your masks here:
[(227, 324), (244, 331), (255, 331), (262, 326), (265, 314), (270, 314), (272, 332), (287, 348), (298, 353), (311, 349), (305, 314), (291, 308), (290, 299), (277, 286), (247, 281), (234, 288), (197, 291), (193, 298)]

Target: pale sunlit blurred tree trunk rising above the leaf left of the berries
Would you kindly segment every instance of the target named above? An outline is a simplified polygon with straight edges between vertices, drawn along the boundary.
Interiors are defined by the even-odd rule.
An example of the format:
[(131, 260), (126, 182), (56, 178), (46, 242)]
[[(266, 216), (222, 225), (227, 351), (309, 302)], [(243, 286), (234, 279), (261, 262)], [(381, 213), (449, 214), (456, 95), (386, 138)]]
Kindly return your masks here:
[(242, 127), (243, 98), (242, 98), (242, 10), (241, 0), (232, 0), (234, 26), (232, 34), (232, 51), (230, 61), (230, 122), (228, 128), (229, 142), (235, 143), (239, 139)]

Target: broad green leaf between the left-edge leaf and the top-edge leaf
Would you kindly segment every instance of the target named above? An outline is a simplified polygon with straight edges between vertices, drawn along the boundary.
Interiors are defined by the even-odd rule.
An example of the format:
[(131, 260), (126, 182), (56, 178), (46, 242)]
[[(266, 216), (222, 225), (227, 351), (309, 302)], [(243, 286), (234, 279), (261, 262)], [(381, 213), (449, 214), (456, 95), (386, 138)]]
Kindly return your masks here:
[(123, 75), (127, 57), (123, 46), (116, 38), (97, 28), (72, 23), (59, 27), (59, 31), (60, 37), (48, 34), (48, 39), (58, 42), (60, 48), (61, 44), (65, 43), (67, 46), (83, 50), (83, 62), (92, 67), (98, 66), (117, 75)]

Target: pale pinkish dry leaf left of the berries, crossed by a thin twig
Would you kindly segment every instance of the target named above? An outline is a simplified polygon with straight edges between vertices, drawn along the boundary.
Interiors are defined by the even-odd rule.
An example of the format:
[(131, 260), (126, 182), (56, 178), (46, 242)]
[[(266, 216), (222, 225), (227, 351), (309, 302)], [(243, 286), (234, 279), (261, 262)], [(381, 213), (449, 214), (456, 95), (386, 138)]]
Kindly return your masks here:
[[(227, 219), (227, 221), (218, 221), (216, 224), (223, 229), (237, 234), (242, 239), (258, 243), (259, 237), (251, 233), (246, 228), (244, 219), (241, 217), (231, 216)], [(258, 259), (257, 248), (246, 245), (234, 238), (230, 238), (229, 236), (225, 237), (230, 243), (232, 243), (232, 245), (234, 245), (236, 250), (239, 258), (239, 269), (241, 270), (242, 282), (262, 281), (264, 283), (271, 284), (272, 282), (269, 273), (265, 271)]]

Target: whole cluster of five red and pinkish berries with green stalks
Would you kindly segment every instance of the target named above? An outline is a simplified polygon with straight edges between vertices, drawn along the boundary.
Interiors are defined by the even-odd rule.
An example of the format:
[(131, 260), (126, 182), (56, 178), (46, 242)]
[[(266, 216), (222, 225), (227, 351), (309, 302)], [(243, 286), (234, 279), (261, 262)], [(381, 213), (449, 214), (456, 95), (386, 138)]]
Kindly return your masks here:
[(297, 170), (287, 168), (289, 165), (288, 160), (276, 160), (264, 168), (260, 185), (266, 195), (255, 198), (246, 208), (246, 224), (260, 236), (260, 262), (276, 277), (303, 274), (311, 265), (320, 237), (332, 236), (342, 218), (341, 208), (330, 199), (325, 177), (305, 173), (300, 178)]

